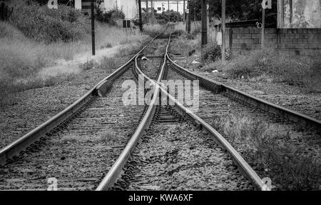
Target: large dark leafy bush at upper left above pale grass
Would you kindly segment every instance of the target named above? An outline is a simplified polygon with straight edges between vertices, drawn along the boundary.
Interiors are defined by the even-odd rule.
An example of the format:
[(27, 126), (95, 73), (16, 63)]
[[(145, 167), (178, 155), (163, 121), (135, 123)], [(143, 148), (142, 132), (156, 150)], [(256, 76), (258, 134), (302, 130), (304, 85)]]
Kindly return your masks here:
[(59, 9), (37, 4), (16, 6), (11, 21), (27, 37), (47, 44), (81, 40), (91, 31), (90, 22), (81, 11), (63, 5)]

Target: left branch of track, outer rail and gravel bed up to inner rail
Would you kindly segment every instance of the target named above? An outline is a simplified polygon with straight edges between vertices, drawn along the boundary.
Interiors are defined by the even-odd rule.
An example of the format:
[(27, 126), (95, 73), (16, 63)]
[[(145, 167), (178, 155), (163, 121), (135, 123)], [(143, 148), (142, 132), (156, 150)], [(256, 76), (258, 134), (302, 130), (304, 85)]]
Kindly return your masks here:
[[(138, 54), (159, 44), (158, 36)], [(96, 189), (146, 109), (123, 105), (123, 82), (136, 81), (131, 71), (136, 56), (54, 118), (1, 149), (0, 190), (46, 190), (53, 177), (58, 190)]]

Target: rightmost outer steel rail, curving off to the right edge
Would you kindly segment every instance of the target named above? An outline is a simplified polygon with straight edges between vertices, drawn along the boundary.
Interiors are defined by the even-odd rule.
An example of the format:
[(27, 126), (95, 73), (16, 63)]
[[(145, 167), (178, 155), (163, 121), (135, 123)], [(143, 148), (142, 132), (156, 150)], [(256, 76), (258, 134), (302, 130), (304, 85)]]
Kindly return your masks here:
[(218, 81), (214, 81), (212, 79), (208, 79), (204, 76), (200, 76), (199, 74), (195, 74), (191, 71), (188, 71), (187, 69), (183, 68), (182, 66), (176, 64), (168, 54), (166, 54), (166, 57), (171, 67), (178, 71), (178, 73), (183, 74), (183, 76), (188, 77), (189, 79), (197, 79), (200, 81), (200, 86), (203, 86), (205, 89), (208, 89), (210, 91), (213, 91), (214, 93), (220, 93), (222, 91), (225, 91), (226, 93), (237, 97), (238, 99), (242, 99), (243, 101), (248, 102), (249, 104), (252, 104), (254, 106), (257, 106), (260, 109), (263, 109), (265, 111), (268, 111), (272, 114), (276, 114), (279, 116), (284, 116), (287, 119), (290, 119), (291, 121), (295, 121), (297, 124), (302, 124), (304, 126), (312, 126), (317, 130), (321, 130), (321, 121), (314, 119), (310, 116), (307, 116), (305, 114), (300, 114), (297, 111), (292, 111), (290, 109), (286, 109), (285, 107), (278, 106), (276, 104), (272, 104), (268, 101), (265, 101), (263, 99), (259, 99), (258, 97), (251, 96), (250, 94), (246, 94), (243, 91), (239, 91), (238, 89), (234, 89), (230, 86), (227, 86), (225, 84), (222, 84)]

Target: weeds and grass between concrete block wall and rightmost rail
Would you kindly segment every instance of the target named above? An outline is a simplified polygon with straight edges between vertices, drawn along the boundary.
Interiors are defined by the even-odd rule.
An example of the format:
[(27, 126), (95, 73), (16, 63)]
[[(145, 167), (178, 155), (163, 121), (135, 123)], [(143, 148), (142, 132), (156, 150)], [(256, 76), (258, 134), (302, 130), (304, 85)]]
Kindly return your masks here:
[(321, 60), (290, 56), (273, 49), (253, 51), (228, 62), (217, 61), (212, 69), (223, 71), (231, 79), (275, 81), (321, 92)]

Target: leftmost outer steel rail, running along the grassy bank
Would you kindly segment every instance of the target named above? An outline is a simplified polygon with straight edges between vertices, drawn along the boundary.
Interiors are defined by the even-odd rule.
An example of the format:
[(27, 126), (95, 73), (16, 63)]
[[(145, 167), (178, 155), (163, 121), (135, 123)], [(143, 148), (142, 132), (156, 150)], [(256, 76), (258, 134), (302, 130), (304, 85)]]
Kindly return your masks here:
[(146, 44), (146, 46), (143, 47), (140, 51), (138, 51), (137, 54), (135, 54), (130, 60), (126, 62), (126, 64), (123, 64), (123, 66), (119, 67), (116, 71), (113, 71), (112, 74), (109, 76), (106, 76), (106, 78), (102, 79), (98, 82), (93, 88), (88, 91), (86, 94), (81, 96), (80, 99), (75, 101), (73, 104), (68, 106), (66, 109), (63, 109), (63, 111), (56, 114), (51, 119), (47, 120), (40, 126), (37, 126), (35, 129), (30, 131), (29, 133), (25, 134), (21, 138), (17, 139), (16, 141), (12, 142), (8, 146), (5, 146), (3, 149), (0, 150), (0, 165), (6, 164), (7, 161), (14, 158), (14, 156), (18, 156), (21, 151), (24, 151), (32, 144), (35, 144), (37, 141), (41, 139), (41, 137), (44, 137), (47, 133), (49, 133), (51, 130), (56, 128), (59, 124), (63, 123), (63, 121), (66, 121), (70, 116), (75, 114), (81, 107), (83, 107), (93, 96), (103, 96), (103, 94), (106, 93), (108, 89), (111, 88), (113, 81), (117, 79), (123, 72), (125, 72), (131, 65), (134, 59), (141, 54), (141, 52), (146, 49), (146, 47), (151, 44), (158, 36), (163, 34), (163, 32), (167, 29), (167, 26), (165, 29), (158, 35), (154, 36), (151, 41)]

